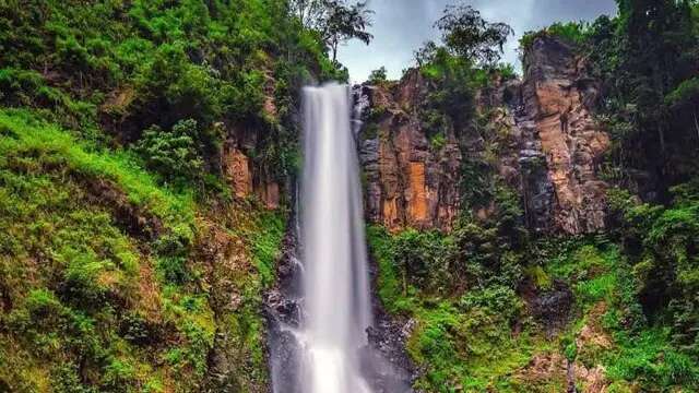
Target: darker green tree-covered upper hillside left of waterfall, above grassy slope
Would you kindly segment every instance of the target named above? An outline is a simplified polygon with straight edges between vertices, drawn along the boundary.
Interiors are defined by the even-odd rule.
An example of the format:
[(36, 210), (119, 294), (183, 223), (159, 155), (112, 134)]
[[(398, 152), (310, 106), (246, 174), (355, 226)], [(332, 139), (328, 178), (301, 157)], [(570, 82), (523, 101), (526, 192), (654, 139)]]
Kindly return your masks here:
[[(346, 79), (283, 0), (4, 1), (0, 26), (1, 103), (94, 139), (102, 128), (135, 142), (153, 126), (192, 119), (210, 138), (194, 141), (204, 147), (251, 128), (258, 151), (287, 163), (294, 92), (316, 78)], [(204, 169), (215, 172), (206, 153)]]

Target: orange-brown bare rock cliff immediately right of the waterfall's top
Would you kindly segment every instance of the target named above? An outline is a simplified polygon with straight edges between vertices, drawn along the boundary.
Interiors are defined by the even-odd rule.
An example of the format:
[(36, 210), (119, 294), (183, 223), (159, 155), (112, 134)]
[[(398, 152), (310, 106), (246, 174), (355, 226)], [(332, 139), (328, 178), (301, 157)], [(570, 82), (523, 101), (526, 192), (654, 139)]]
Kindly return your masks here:
[(431, 143), (416, 111), (427, 84), (416, 70), (394, 86), (362, 86), (370, 123), (362, 132), (369, 221), (390, 229), (448, 230), (459, 212), (461, 151), (453, 132)]

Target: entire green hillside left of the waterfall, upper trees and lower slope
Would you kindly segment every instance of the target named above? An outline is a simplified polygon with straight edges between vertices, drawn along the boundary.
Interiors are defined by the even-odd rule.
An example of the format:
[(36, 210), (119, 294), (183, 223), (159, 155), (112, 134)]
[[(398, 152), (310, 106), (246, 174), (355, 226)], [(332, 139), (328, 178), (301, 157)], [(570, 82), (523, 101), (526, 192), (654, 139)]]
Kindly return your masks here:
[(291, 175), (328, 44), (285, 0), (0, 1), (0, 391), (265, 391), (284, 211), (222, 144)]

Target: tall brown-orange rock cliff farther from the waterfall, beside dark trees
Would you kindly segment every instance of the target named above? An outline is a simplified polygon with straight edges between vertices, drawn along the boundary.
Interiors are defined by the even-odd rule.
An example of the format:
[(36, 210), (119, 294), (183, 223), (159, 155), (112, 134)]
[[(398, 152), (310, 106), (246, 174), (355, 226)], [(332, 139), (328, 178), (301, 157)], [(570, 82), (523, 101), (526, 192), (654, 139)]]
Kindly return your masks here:
[[(593, 233), (605, 225), (606, 183), (597, 177), (597, 166), (609, 138), (591, 112), (597, 85), (587, 78), (584, 60), (557, 39), (537, 38), (524, 56), (516, 119), (523, 135), (525, 205), (535, 222), (548, 222), (555, 231)], [(541, 155), (548, 180), (531, 169), (533, 157)], [(544, 212), (542, 200), (547, 196), (542, 195), (552, 188), (552, 209)], [(550, 217), (537, 216), (541, 213)]]

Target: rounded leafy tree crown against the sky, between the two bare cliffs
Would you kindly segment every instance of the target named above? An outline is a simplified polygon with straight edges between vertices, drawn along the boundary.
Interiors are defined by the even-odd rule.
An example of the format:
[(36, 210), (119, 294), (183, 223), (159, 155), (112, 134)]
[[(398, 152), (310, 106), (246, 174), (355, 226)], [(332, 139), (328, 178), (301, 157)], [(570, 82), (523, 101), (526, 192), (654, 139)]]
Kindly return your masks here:
[(455, 55), (495, 67), (502, 56), (507, 38), (514, 34), (507, 23), (490, 23), (471, 5), (449, 5), (435, 23), (442, 33), (445, 45)]

